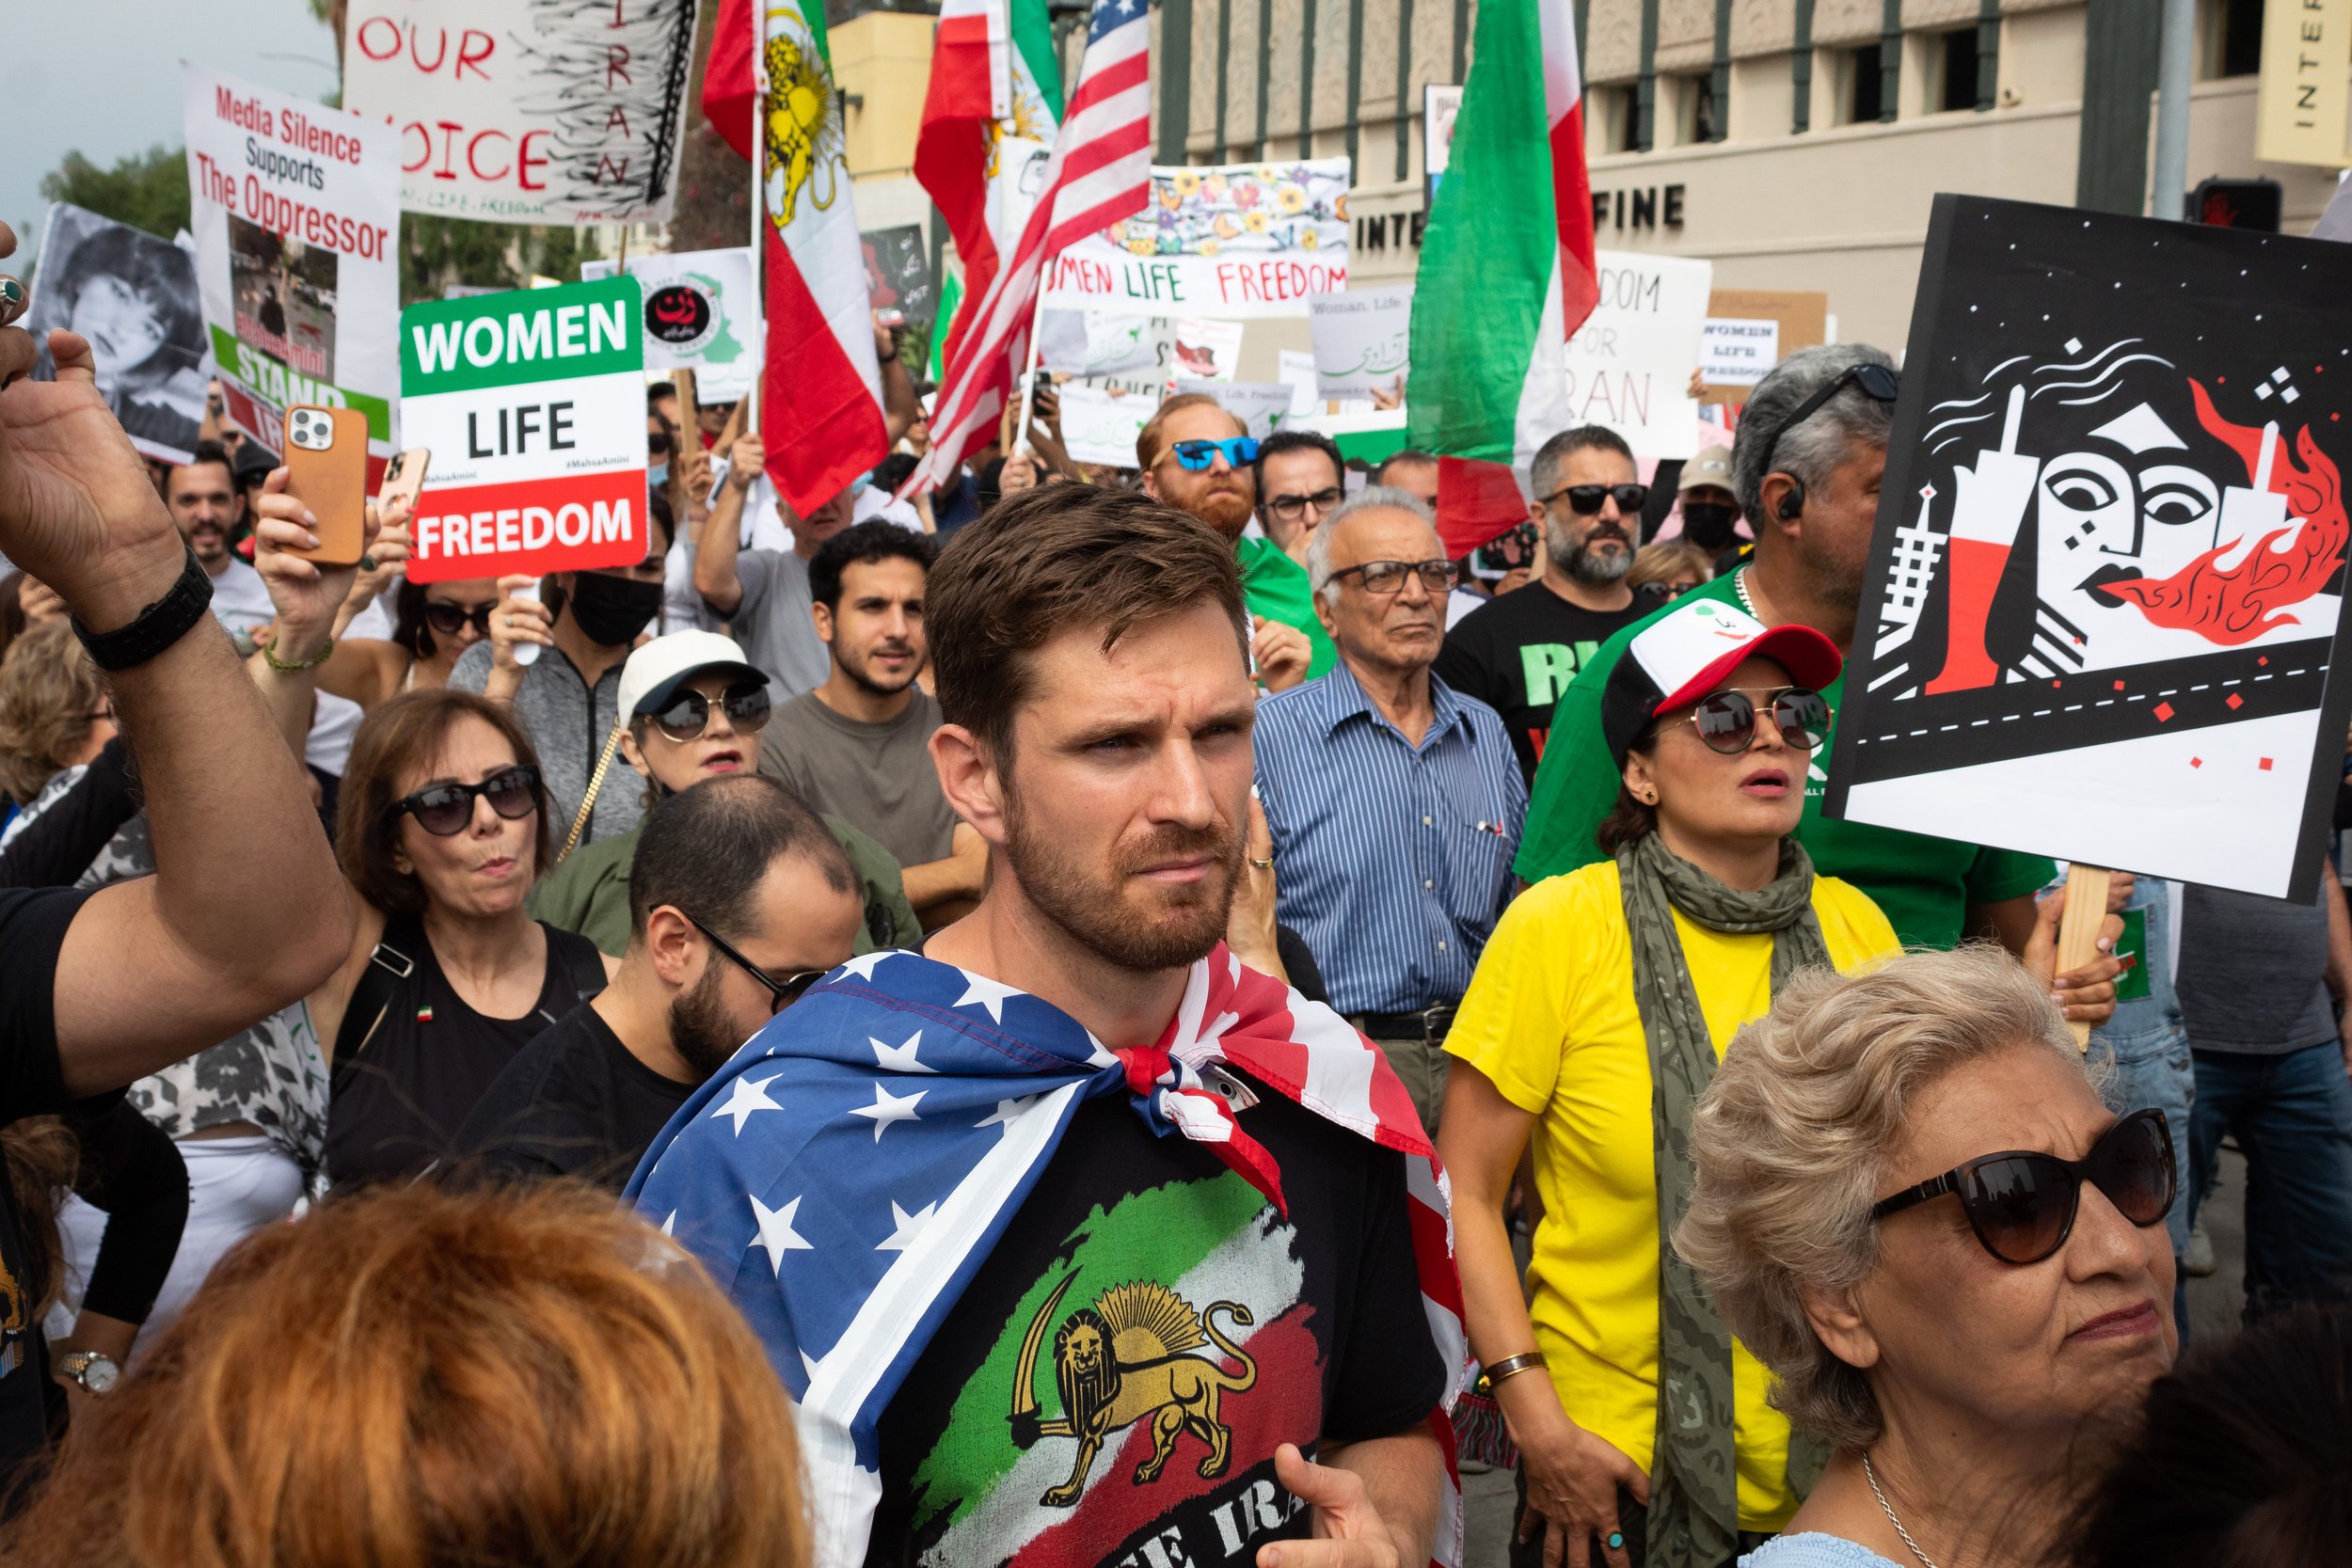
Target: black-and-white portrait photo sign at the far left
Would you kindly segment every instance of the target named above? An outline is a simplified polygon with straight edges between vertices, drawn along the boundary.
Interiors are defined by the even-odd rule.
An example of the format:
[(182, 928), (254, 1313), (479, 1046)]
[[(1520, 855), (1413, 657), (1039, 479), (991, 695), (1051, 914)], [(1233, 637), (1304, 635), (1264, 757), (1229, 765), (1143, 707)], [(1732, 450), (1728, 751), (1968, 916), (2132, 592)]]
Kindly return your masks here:
[(99, 395), (143, 456), (186, 463), (205, 423), (205, 308), (195, 261), (169, 240), (56, 202), (40, 237), (33, 374), (56, 378), (49, 329), (89, 339)]

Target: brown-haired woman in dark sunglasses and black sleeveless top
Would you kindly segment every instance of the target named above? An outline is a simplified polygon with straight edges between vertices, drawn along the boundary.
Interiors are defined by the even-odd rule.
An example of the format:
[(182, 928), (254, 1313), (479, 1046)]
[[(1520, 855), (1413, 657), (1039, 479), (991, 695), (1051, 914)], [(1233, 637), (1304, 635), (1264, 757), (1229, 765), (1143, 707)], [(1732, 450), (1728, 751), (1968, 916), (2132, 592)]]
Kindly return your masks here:
[(515, 717), (468, 691), (409, 691), (350, 743), (334, 851), (358, 933), (310, 994), (334, 1088), (327, 1175), (407, 1178), (609, 961), (524, 910), (546, 870), (548, 792)]

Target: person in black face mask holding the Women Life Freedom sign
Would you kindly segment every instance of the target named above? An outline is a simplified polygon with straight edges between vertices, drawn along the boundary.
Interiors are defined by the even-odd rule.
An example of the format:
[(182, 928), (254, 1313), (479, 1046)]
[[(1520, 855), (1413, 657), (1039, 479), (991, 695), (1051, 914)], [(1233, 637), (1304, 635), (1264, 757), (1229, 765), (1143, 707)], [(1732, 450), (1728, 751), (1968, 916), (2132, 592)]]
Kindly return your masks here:
[(557, 849), (628, 832), (644, 816), (644, 792), (628, 766), (614, 757), (597, 780), (597, 762), (619, 745), (621, 665), (661, 614), (670, 508), (654, 496), (649, 512), (652, 550), (635, 567), (499, 578), (489, 639), (459, 654), (449, 670), (452, 686), (506, 703), (532, 731)]

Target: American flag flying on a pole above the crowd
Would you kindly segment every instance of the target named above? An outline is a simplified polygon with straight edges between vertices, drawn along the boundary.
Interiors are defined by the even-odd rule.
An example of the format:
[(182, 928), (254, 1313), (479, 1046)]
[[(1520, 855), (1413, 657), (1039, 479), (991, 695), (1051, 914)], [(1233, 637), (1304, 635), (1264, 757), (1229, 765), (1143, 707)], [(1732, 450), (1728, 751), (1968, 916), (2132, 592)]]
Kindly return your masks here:
[(1044, 195), (1021, 230), (1021, 244), (988, 282), (971, 327), (955, 343), (931, 414), (931, 451), (906, 489), (946, 484), (964, 451), (985, 444), (1011, 397), (1014, 369), (1028, 364), (1028, 339), (1044, 263), (1075, 240), (1131, 219), (1150, 202), (1150, 12), (1145, 0), (1094, 0), (1087, 59), (1054, 136)]

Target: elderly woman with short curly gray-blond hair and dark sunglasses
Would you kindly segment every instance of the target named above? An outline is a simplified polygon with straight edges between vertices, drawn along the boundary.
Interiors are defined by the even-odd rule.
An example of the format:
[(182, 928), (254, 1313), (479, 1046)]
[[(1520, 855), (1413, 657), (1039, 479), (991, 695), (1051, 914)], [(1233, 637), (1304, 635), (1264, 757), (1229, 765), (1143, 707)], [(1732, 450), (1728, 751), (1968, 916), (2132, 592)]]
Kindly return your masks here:
[(1983, 947), (1806, 973), (1691, 1128), (1675, 1248), (1835, 1448), (1745, 1568), (2025, 1568), (2079, 1443), (2173, 1363), (2173, 1145)]

